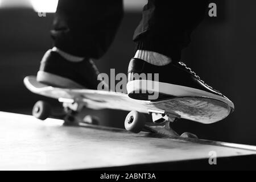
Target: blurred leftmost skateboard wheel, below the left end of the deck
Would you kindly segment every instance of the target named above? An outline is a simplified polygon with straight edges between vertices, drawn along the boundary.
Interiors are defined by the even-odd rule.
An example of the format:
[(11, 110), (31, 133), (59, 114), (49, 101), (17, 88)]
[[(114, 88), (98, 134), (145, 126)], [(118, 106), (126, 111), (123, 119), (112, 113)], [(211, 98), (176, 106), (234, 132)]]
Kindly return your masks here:
[(51, 114), (51, 106), (46, 101), (38, 101), (33, 107), (32, 115), (34, 117), (44, 120)]

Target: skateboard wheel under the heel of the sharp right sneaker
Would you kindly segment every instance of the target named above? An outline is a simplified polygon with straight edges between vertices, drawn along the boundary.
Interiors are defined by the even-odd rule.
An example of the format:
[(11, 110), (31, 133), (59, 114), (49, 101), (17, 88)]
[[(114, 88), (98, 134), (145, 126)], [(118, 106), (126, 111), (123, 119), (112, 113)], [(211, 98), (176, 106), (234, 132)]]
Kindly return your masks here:
[(125, 118), (125, 129), (133, 133), (139, 133), (146, 123), (146, 117), (143, 113), (130, 111)]

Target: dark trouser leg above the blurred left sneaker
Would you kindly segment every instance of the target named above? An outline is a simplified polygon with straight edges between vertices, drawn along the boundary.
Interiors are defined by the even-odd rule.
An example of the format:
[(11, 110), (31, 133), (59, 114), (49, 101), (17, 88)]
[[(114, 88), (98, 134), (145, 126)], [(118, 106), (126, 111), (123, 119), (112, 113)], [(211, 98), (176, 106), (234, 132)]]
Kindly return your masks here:
[(51, 31), (54, 46), (98, 59), (113, 42), (122, 16), (122, 0), (59, 0)]

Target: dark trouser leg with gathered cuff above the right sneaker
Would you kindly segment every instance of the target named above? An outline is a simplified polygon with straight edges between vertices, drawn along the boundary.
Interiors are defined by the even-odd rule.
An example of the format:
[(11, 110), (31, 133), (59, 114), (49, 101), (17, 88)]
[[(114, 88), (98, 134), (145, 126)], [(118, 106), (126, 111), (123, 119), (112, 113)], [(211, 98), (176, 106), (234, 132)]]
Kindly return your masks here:
[(180, 60), (191, 32), (203, 20), (208, 0), (148, 0), (134, 32), (137, 49), (162, 53)]

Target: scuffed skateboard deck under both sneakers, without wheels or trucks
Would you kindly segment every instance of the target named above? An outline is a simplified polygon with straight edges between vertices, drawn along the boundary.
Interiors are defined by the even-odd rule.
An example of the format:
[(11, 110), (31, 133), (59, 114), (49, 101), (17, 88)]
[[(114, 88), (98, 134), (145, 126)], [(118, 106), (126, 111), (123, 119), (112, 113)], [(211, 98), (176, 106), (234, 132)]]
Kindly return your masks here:
[(230, 107), (222, 101), (208, 97), (173, 97), (158, 101), (141, 101), (125, 93), (90, 89), (66, 89), (48, 86), (36, 81), (35, 76), (24, 78), (24, 84), (33, 93), (56, 98), (60, 102), (82, 103), (90, 109), (116, 109), (140, 113), (174, 115), (200, 123), (214, 123), (227, 117)]

